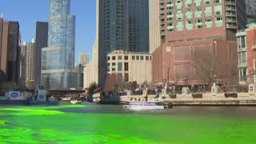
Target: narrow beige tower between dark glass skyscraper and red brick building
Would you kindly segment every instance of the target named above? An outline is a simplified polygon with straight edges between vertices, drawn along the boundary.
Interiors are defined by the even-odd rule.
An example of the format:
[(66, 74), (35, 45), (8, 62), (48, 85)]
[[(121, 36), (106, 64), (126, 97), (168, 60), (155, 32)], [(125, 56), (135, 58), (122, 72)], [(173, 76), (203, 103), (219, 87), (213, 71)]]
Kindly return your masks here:
[(159, 0), (150, 1), (150, 54), (161, 45)]

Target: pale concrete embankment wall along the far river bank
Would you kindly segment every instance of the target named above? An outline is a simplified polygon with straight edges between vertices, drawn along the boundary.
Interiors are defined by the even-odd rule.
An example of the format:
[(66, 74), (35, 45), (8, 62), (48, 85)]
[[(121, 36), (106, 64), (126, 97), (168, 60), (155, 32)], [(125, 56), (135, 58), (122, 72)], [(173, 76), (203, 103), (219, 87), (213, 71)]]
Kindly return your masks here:
[[(153, 101), (155, 95), (147, 95), (148, 101)], [(94, 97), (94, 102), (126, 103), (131, 99), (146, 101), (146, 95), (126, 95), (113, 98)], [(171, 102), (174, 106), (256, 106), (256, 93), (229, 93), (229, 94), (162, 94), (163, 102)]]

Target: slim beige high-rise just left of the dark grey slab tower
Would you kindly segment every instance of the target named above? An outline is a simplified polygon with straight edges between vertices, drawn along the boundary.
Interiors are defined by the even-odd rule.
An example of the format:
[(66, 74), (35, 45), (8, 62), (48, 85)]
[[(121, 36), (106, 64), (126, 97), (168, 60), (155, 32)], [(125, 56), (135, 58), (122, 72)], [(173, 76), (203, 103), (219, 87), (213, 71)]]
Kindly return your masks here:
[(26, 42), (26, 87), (34, 89), (35, 72), (35, 39)]

